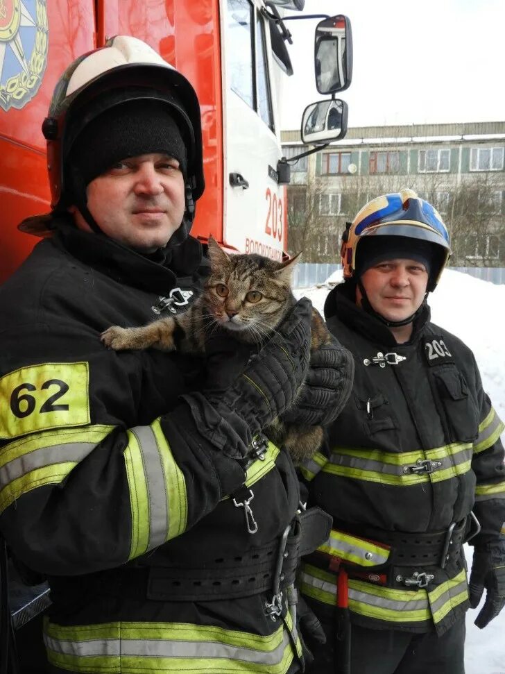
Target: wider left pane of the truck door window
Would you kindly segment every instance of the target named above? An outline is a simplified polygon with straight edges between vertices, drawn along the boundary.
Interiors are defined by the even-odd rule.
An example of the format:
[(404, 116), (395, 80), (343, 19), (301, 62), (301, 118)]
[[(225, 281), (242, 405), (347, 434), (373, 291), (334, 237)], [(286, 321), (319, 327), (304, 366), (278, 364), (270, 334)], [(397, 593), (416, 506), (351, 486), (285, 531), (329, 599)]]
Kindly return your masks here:
[(254, 7), (248, 0), (228, 0), (230, 83), (232, 90), (254, 110), (253, 19)]

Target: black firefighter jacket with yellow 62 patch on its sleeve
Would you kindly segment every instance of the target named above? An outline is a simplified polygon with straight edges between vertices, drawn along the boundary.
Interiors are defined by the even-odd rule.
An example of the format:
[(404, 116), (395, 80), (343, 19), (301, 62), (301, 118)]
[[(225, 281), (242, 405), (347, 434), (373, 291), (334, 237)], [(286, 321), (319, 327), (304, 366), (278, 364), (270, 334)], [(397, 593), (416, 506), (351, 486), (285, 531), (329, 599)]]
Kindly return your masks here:
[[(205, 262), (191, 237), (150, 259), (65, 225), (0, 289), (0, 530), (50, 578), (55, 668), (190, 673), (266, 662), (284, 674), (300, 648), (286, 610), (284, 621), (266, 615), (272, 592), (255, 591), (256, 578), (228, 578), (249, 582), (251, 596), (241, 585), (239, 598), (219, 598), (220, 564), (228, 575), (243, 560), (248, 572), (259, 562), (271, 571), (298, 508), (291, 460), (269, 446), (246, 475), (198, 434), (180, 401), (203, 385), (197, 357), (117, 353), (100, 341), (108, 326), (157, 318), (161, 298), (178, 310), (196, 298)], [(255, 534), (240, 505), (251, 496)], [(184, 600), (178, 573), (187, 582), (189, 568)], [(214, 598), (200, 601), (205, 580)]]

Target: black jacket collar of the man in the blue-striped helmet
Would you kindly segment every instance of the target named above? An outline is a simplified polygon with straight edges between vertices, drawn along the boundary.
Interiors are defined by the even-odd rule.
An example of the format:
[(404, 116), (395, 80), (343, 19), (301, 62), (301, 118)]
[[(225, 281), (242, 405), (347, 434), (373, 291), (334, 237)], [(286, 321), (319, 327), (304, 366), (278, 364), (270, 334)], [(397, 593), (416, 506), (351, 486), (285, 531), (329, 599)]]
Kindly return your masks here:
[[(377, 321), (376, 318), (364, 312), (356, 304), (355, 289), (353, 285), (341, 283), (329, 292), (325, 301), (325, 319), (333, 316), (337, 317), (345, 326), (351, 330), (359, 332), (367, 339), (373, 339), (374, 342), (386, 346), (399, 346), (384, 323)], [(418, 342), (422, 332), (430, 319), (430, 309), (425, 302), (422, 305), (416, 319), (413, 321), (413, 330), (411, 339), (406, 344)]]

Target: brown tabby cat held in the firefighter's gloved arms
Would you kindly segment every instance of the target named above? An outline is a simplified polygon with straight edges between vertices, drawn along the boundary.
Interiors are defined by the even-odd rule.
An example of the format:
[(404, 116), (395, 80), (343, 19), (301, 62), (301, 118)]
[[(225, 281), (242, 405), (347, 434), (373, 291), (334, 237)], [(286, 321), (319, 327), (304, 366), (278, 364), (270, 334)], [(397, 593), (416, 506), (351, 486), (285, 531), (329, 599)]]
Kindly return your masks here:
[[(205, 353), (205, 335), (217, 323), (241, 342), (257, 344), (275, 332), (296, 303), (290, 282), (298, 257), (275, 262), (262, 255), (228, 255), (211, 236), (211, 273), (203, 294), (186, 312), (159, 319), (142, 328), (112, 326), (102, 333), (101, 340), (105, 346), (118, 351), (150, 346), (173, 351), (177, 333), (180, 351)], [(325, 322), (313, 309), (311, 351), (331, 342)], [(311, 457), (323, 441), (320, 426), (283, 423), (282, 416), (264, 432), (274, 444), (286, 447), (296, 463)]]

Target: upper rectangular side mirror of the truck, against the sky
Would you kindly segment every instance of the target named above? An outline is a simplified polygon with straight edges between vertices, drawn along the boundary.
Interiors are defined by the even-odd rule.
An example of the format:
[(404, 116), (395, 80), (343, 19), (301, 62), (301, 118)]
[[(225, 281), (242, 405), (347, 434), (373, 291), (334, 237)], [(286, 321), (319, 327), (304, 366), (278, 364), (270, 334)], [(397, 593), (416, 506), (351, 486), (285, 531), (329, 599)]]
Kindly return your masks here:
[(348, 88), (352, 79), (352, 31), (348, 17), (323, 19), (314, 34), (314, 69), (320, 94)]

